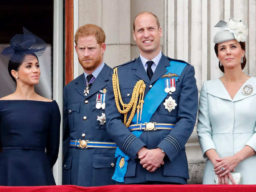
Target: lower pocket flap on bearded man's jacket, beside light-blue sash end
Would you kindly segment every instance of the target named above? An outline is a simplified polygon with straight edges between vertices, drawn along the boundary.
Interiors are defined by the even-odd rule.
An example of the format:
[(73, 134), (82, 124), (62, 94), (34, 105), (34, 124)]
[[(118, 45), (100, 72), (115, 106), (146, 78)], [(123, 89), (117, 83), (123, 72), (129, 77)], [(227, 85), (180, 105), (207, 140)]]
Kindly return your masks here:
[(114, 168), (116, 165), (114, 153), (99, 153), (93, 154), (93, 167), (94, 168)]

